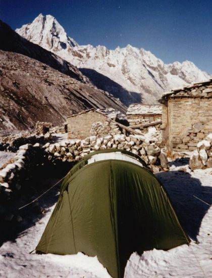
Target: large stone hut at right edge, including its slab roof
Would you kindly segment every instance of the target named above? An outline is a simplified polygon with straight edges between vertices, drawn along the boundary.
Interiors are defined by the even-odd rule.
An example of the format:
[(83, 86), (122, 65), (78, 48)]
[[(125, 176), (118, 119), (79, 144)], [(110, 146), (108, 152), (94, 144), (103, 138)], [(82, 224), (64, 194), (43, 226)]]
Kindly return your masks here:
[(212, 132), (212, 79), (162, 95), (163, 138), (170, 151), (193, 151)]

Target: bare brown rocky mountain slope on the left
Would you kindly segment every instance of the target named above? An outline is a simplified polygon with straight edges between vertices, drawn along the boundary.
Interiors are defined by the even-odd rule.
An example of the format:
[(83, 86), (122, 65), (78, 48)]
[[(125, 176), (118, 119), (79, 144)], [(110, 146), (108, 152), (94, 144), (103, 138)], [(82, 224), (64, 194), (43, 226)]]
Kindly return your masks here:
[(89, 108), (125, 111), (94, 88), (27, 56), (0, 50), (0, 134), (35, 127), (36, 121), (60, 125)]

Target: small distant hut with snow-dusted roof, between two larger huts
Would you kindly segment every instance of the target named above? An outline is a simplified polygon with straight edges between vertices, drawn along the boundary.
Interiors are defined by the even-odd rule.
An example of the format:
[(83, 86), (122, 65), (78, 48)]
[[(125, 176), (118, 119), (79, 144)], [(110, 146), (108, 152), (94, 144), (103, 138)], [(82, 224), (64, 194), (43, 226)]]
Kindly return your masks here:
[(129, 125), (150, 123), (162, 120), (162, 105), (131, 104), (127, 110)]

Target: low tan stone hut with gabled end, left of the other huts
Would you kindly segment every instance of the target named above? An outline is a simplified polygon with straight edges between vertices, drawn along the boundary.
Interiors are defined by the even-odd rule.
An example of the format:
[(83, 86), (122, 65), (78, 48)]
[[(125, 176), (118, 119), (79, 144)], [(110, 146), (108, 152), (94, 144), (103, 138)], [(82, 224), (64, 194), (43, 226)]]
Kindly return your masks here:
[(67, 117), (68, 138), (85, 139), (91, 135), (103, 137), (120, 134), (119, 126), (107, 115), (94, 108)]

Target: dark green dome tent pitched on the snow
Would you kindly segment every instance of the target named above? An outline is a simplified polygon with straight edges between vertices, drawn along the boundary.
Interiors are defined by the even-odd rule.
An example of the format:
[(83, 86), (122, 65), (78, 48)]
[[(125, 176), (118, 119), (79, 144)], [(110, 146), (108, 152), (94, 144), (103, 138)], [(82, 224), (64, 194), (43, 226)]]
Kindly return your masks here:
[(169, 196), (137, 155), (93, 152), (66, 175), (36, 251), (97, 256), (123, 277), (133, 252), (188, 244)]

